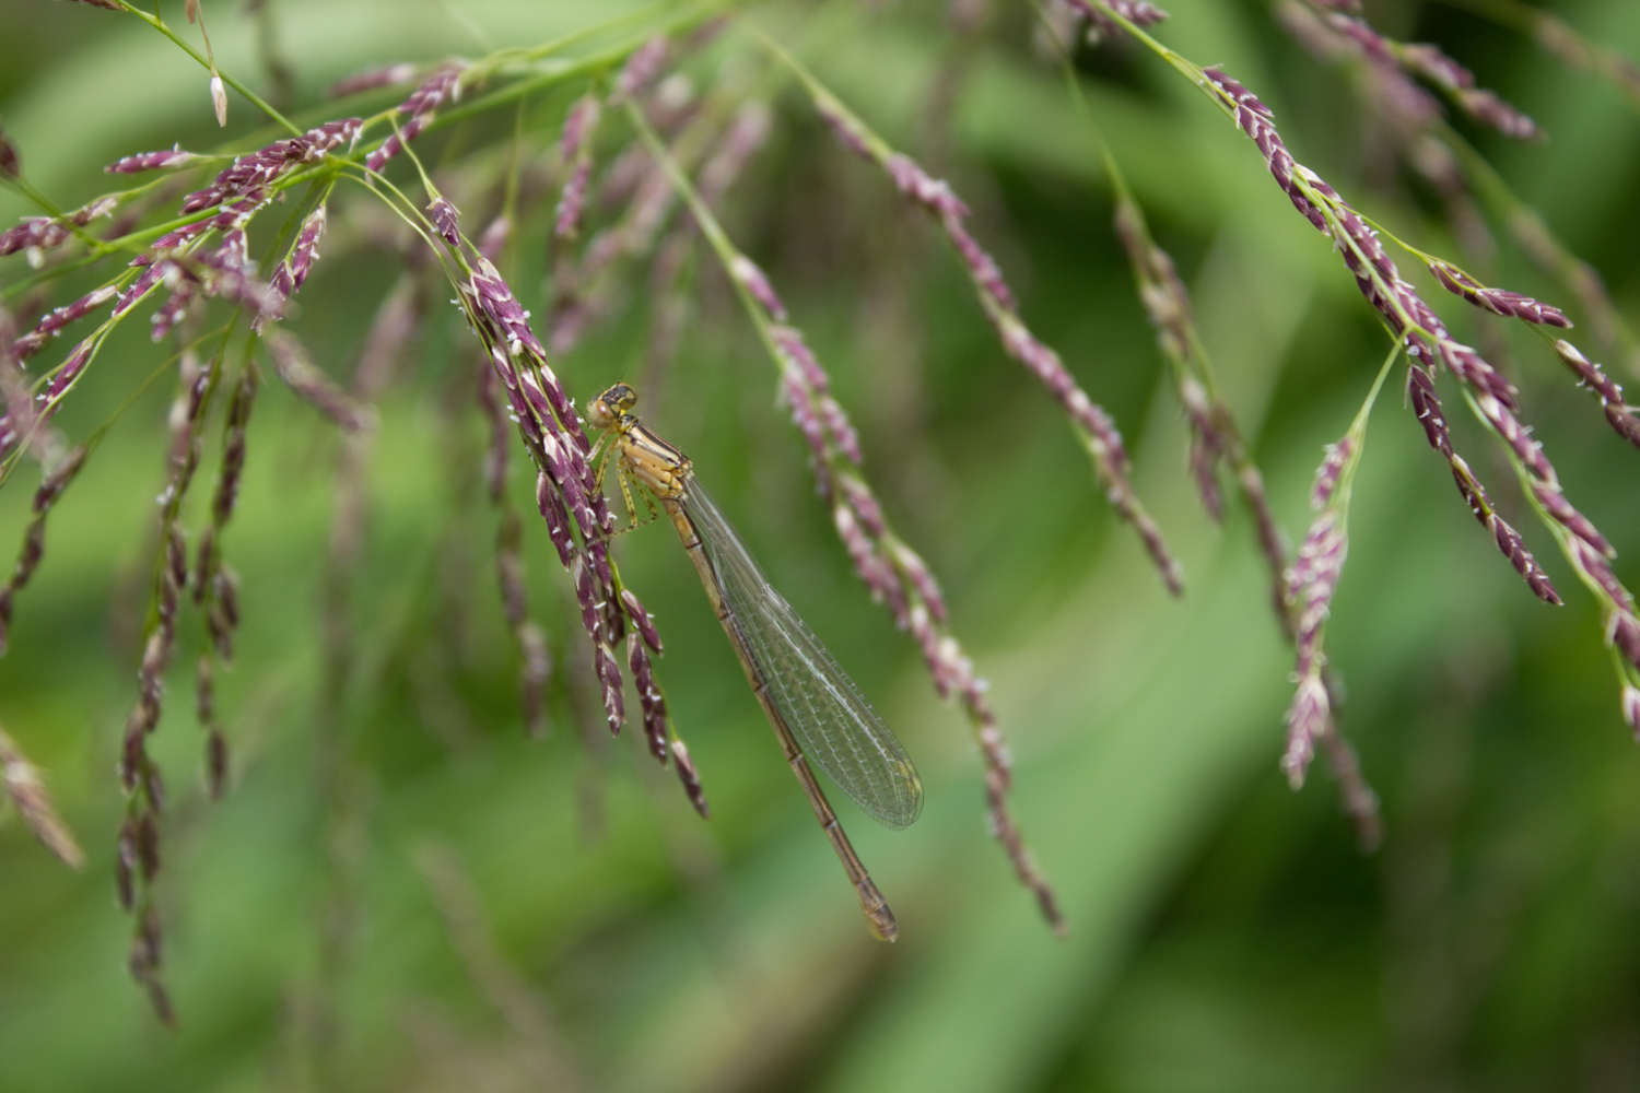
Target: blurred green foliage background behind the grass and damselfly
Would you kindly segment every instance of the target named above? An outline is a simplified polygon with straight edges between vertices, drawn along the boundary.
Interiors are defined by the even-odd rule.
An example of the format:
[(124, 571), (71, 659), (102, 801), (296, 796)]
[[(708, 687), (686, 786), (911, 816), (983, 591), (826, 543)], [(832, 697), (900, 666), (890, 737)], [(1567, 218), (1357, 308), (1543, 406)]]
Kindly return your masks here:
[[(1396, 166), (1348, 69), (1314, 61), (1256, 0), (1166, 7), (1158, 34), (1258, 90), (1302, 162), (1456, 257), (1440, 203)], [(1547, 7), (1640, 56), (1632, 0)], [(207, 3), (220, 62), (259, 88), (271, 80), (257, 26), (271, 21), (297, 108), (369, 64), (482, 56), (485, 36), (531, 44), (612, 10)], [(164, 11), (182, 25), (180, 3)], [(1522, 146), (1458, 123), (1640, 320), (1633, 103), (1460, 8), (1369, 0), (1368, 13), (1442, 43), (1547, 128)], [(531, 610), (559, 672), (553, 737), (525, 736), (495, 515), (479, 485), (474, 346), (459, 315), (436, 306), (380, 401), (364, 556), (341, 590), (325, 560), (339, 439), (264, 383), (226, 539), (244, 618), (218, 698), (228, 796), (212, 805), (200, 788), (189, 616), (154, 741), (174, 796), (159, 906), (175, 1032), (125, 973), (130, 921), (112, 883), (113, 765), (134, 696), (171, 374), (118, 416), (52, 515), (0, 660), (0, 721), (48, 772), (89, 862), (72, 873), (15, 816), (0, 826), (0, 1090), (1640, 1088), (1640, 752), (1594, 605), (1496, 447), (1455, 421), (1566, 593), (1561, 610), (1533, 600), (1492, 549), (1394, 382), (1374, 415), (1328, 634), (1348, 683), (1345, 728), (1383, 796), (1383, 849), (1363, 855), (1328, 778), (1317, 770), (1292, 793), (1276, 769), (1291, 662), (1251, 529), (1240, 510), (1214, 528), (1194, 497), (1109, 188), (1032, 48), (1028, 10), (995, 3), (977, 33), (953, 29), (932, 0), (776, 5), (758, 18), (976, 206), (1025, 318), (1117, 416), (1137, 485), (1186, 562), (1174, 601), (1056, 408), (999, 351), (943, 239), (790, 87), (763, 85), (774, 133), (727, 223), (830, 364), (868, 474), (945, 582), (954, 631), (992, 682), (1017, 757), (1015, 810), (1069, 937), (1050, 934), (987, 836), (968, 728), (853, 577), (722, 279), (702, 265), (661, 379), (645, 372), (640, 267), (626, 310), (559, 374), (582, 398), (620, 375), (653, 380), (648, 420), (694, 457), (915, 755), (928, 805), (909, 831), (840, 801), (899, 913), (899, 944), (866, 934), (664, 524), (623, 536), (618, 556), (666, 639), (661, 680), (712, 821), (690, 813), (641, 734), (600, 736), (574, 596), (533, 519)], [(1327, 243), (1196, 88), (1137, 48), (1077, 62), (1299, 536), (1322, 444), (1369, 387), (1383, 334)], [(540, 123), (530, 147), (556, 139), (564, 102), (528, 115)], [(44, 0), (0, 5), (0, 116), (31, 180), (66, 206), (102, 192), (100, 167), (118, 156), (223, 139), (205, 75), (174, 46), (134, 18)], [(238, 147), (253, 125), (235, 98)], [(459, 164), (510, 125), (428, 138), (423, 156), (467, 141), (441, 161)], [(600, 152), (620, 139), (607, 129)], [(290, 323), (343, 382), (397, 275), (367, 246), (369, 197), (344, 200)], [(551, 200), (508, 270), (536, 315)], [(26, 211), (0, 192), (0, 218)], [(8, 262), (3, 280), (21, 275)], [(1569, 305), (1507, 239), (1497, 270), (1496, 283)], [(1425, 292), (1476, 336), (1478, 313)], [(1617, 544), (1619, 575), (1640, 582), (1640, 454), (1540, 341), (1504, 336), (1569, 497)], [(59, 418), (67, 436), (108, 420), (161, 361), (141, 338), (105, 349)], [(520, 462), (512, 485), (528, 508)], [(0, 492), (0, 542), (21, 534), (31, 474)], [(351, 619), (339, 667), (321, 636), (338, 603)]]

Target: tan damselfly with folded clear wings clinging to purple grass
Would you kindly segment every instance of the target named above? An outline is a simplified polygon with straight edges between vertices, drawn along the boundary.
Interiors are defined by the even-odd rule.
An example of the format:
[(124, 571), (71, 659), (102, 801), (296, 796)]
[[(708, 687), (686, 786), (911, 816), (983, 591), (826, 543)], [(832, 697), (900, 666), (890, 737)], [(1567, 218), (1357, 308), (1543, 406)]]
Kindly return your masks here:
[(728, 518), (700, 488), (689, 457), (628, 413), (636, 403), (638, 393), (617, 383), (587, 406), (587, 423), (604, 431), (599, 446), (608, 444), (604, 457), (617, 457), (626, 508), (636, 518), (626, 483), (636, 478), (671, 516), (786, 762), (843, 860), (871, 932), (894, 941), (894, 913), (850, 846), (809, 760), (894, 829), (909, 826), (922, 811), (917, 769), (854, 680), (769, 585)]

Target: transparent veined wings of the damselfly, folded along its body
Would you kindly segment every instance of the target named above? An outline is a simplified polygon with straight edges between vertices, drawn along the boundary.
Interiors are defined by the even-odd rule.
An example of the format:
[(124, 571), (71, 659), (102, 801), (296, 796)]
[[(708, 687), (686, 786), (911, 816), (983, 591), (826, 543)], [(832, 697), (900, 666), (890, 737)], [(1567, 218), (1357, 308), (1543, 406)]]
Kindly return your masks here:
[(881, 824), (909, 826), (922, 811), (922, 778), (882, 716), (769, 585), (695, 480), (684, 511), (700, 533), (746, 652), (804, 754)]

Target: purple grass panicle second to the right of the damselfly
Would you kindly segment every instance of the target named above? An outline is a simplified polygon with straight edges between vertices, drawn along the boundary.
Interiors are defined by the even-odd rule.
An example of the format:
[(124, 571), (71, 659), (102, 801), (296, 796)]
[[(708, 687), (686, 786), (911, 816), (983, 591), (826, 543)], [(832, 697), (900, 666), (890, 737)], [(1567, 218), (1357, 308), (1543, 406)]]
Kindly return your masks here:
[(969, 215), (968, 205), (956, 197), (945, 180), (933, 179), (913, 159), (894, 151), (882, 138), (872, 133), (790, 51), (763, 34), (759, 34), (759, 41), (771, 56), (797, 77), (815, 111), (825, 121), (827, 128), (836, 134), (843, 147), (881, 167), (910, 203), (922, 208), (940, 224), (963, 259), (963, 265), (979, 297), (981, 308), (995, 328), (1002, 349), (1025, 365), (1061, 405), (1073, 429), (1094, 460), (1112, 508), (1138, 533), (1145, 552), (1150, 554), (1168, 590), (1174, 595), (1182, 593), (1184, 569), (1173, 557), (1161, 529), (1151, 519), (1150, 513), (1145, 511), (1138, 493), (1135, 493), (1128, 480), (1127, 447), (1115, 428), (1115, 421), (1081, 388), (1076, 379), (1066, 370), (1059, 354), (1038, 339), (1020, 318), (1014, 292), (1009, 288), (995, 259), (968, 231), (964, 223)]

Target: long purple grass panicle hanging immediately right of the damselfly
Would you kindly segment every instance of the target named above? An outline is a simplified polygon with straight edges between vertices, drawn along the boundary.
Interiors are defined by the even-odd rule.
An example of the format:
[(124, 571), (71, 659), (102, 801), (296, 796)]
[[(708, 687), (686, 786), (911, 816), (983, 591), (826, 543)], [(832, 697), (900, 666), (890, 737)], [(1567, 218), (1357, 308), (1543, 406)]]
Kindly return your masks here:
[(992, 836), (1007, 852), (1020, 883), (1036, 898), (1043, 918), (1055, 932), (1064, 932), (1064, 918), (1053, 885), (1036, 864), (1018, 821), (1009, 810), (1007, 796), (1014, 785), (1012, 755), (995, 713), (986, 700), (987, 683), (974, 673), (973, 660), (946, 629), (945, 598), (928, 565), (889, 526), (882, 506), (859, 470), (858, 436), (846, 411), (830, 393), (825, 369), (804, 342), (800, 331), (776, 321), (776, 315), (784, 315), (786, 308), (781, 305), (776, 313), (769, 306), (779, 305), (772, 285), (730, 241), (682, 166), (667, 156), (641, 111), (628, 105), (626, 113), (694, 213), (695, 223), (738, 288), (746, 315), (779, 369), (781, 398), (809, 444), (820, 492), (831, 508), (838, 537), (856, 574), (871, 590), (872, 600), (886, 601), (895, 624), (915, 637), (938, 695), (963, 705), (986, 765), (987, 823)]

